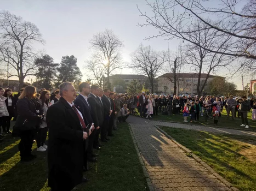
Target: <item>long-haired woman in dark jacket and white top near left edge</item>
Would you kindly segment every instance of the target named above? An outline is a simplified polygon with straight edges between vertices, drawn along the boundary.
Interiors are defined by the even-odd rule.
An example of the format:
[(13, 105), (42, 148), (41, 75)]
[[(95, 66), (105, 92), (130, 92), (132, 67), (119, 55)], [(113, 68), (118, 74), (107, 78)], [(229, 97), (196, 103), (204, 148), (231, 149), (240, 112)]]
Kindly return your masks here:
[(4, 130), (6, 130), (6, 133), (12, 133), (10, 132), (10, 121), (15, 116), (17, 100), (15, 97), (13, 97), (12, 89), (6, 89), (3, 96), (7, 98), (5, 99), (5, 104), (9, 112), (9, 116), (6, 116), (4, 120), (4, 125), (5, 125)]

